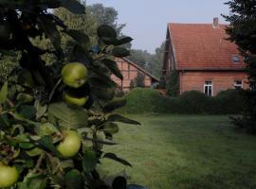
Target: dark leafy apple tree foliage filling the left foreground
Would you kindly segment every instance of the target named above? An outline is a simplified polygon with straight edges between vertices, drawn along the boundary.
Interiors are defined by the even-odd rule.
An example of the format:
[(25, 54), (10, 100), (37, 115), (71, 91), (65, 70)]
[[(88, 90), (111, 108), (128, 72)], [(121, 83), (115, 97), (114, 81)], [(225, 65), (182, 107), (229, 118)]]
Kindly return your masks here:
[[(3, 78), (17, 79), (4, 82), (0, 90), (0, 166), (19, 170), (12, 188), (110, 188), (96, 169), (101, 159), (131, 164), (104, 153), (102, 147), (117, 145), (112, 141), (119, 131), (114, 122), (139, 124), (112, 114), (125, 105), (124, 100), (112, 101), (117, 84), (110, 73), (122, 77), (114, 56), (127, 56), (129, 51), (120, 45), (132, 39), (118, 38), (112, 26), (102, 25), (91, 40), (84, 30), (69, 28), (54, 10), (49, 11), (58, 8), (79, 14), (74, 19), (79, 18), (80, 26), (84, 22), (84, 5), (76, 0), (0, 2), (0, 51), (17, 56), (18, 64)], [(88, 69), (82, 73), (86, 83), (79, 88), (64, 84), (61, 74), (64, 65), (74, 61)], [(80, 77), (80, 72), (74, 77)], [(9, 94), (12, 85), (21, 89)], [(84, 97), (87, 101), (71, 105), (64, 98), (66, 92), (75, 102)], [(97, 112), (92, 111), (95, 105), (101, 107)], [(70, 158), (64, 158), (58, 148), (64, 144), (66, 130), (77, 133), (82, 144)]]

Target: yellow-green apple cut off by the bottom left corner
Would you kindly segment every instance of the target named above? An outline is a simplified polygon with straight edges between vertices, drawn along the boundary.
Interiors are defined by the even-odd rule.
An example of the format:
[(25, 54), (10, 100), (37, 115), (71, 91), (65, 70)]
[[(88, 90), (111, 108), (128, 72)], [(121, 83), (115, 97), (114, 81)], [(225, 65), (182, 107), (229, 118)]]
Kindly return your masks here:
[(19, 179), (19, 172), (15, 166), (0, 163), (0, 188), (12, 186)]

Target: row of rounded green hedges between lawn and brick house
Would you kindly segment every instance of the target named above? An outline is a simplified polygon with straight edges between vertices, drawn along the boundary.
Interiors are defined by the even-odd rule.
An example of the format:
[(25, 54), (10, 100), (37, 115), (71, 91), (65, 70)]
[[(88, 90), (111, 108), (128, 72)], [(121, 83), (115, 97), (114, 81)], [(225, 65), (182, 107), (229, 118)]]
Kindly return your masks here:
[(127, 105), (123, 113), (209, 113), (238, 114), (245, 109), (246, 100), (237, 90), (228, 90), (209, 97), (197, 91), (186, 92), (179, 97), (168, 97), (156, 90), (137, 88), (123, 96)]

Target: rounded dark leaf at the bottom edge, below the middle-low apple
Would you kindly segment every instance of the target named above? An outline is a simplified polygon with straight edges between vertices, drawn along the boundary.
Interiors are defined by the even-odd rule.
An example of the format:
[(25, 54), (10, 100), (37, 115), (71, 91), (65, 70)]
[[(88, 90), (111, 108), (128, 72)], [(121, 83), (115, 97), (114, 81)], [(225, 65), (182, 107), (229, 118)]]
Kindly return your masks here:
[(82, 174), (77, 169), (72, 169), (64, 176), (65, 185), (67, 189), (83, 189), (84, 182)]

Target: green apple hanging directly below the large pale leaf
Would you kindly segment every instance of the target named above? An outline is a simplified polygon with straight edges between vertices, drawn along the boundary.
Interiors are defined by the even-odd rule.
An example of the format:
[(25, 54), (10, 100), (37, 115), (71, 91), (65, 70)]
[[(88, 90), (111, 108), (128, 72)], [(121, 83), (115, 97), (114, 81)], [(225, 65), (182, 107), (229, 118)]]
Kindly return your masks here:
[(74, 130), (65, 130), (63, 134), (64, 140), (57, 146), (57, 149), (64, 158), (72, 158), (78, 153), (81, 147), (81, 137)]

